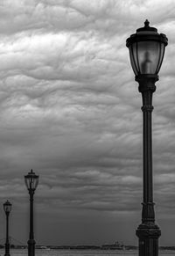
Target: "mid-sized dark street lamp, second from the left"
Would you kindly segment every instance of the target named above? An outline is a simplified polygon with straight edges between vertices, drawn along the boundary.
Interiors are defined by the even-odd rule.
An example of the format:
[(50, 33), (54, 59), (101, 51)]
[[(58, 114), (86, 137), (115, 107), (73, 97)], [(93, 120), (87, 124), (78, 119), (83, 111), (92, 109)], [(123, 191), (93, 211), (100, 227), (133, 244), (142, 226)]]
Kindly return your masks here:
[(30, 235), (28, 240), (28, 256), (34, 256), (36, 243), (33, 232), (33, 194), (38, 186), (38, 175), (36, 175), (32, 170), (25, 175), (25, 185), (30, 194)]

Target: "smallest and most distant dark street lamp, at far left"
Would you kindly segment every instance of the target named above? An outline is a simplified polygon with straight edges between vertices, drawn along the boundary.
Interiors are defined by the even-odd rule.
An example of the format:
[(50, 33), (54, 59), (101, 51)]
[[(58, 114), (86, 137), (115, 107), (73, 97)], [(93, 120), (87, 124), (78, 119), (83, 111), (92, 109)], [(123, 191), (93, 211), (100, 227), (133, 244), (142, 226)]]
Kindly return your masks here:
[(5, 254), (4, 256), (10, 256), (10, 243), (9, 243), (9, 215), (11, 212), (11, 202), (4, 202), (4, 212), (6, 215), (6, 241), (5, 241)]

